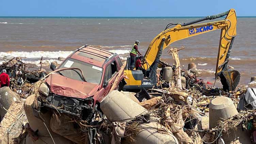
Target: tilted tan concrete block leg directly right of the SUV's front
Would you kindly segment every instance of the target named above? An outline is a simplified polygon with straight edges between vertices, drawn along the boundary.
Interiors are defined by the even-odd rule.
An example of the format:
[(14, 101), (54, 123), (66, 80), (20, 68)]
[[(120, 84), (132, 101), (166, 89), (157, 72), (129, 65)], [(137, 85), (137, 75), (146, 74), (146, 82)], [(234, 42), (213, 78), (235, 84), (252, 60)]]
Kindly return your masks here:
[(112, 122), (129, 122), (148, 111), (119, 91), (111, 91), (101, 102), (100, 109)]

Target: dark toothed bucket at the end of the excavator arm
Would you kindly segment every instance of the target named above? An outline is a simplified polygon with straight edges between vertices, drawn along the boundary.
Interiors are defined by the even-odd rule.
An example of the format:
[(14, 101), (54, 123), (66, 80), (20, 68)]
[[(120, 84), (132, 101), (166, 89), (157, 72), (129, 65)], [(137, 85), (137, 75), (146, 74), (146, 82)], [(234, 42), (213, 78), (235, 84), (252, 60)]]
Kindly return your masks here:
[(220, 79), (224, 91), (234, 91), (240, 81), (240, 73), (237, 70), (222, 71)]

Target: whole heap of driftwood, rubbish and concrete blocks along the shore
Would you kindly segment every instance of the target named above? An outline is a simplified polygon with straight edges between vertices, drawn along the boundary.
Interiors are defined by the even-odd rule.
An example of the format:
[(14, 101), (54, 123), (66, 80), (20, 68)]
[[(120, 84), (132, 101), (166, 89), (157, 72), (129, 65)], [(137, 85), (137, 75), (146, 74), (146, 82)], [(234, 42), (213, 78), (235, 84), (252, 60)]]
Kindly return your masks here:
[[(95, 101), (81, 105), (88, 108), (83, 113), (90, 119), (82, 119), (83, 113), (81, 117), (63, 113), (58, 105), (49, 104), (52, 109), (42, 107), (38, 99), (45, 102), (41, 94), (50, 93), (42, 79), (47, 72), (42, 68), (29, 71), (20, 58), (6, 59), (0, 70), (7, 70), (12, 83), (11, 89), (0, 89), (1, 144), (256, 143), (254, 89), (241, 87), (226, 92), (210, 87), (198, 79), (194, 63), (188, 65), (188, 70), (181, 68), (178, 51), (169, 51), (174, 65), (164, 67), (162, 79), (153, 89), (134, 93), (110, 87), (94, 107), (88, 108)], [(50, 68), (58, 66), (53, 62)], [(118, 83), (114, 81), (113, 85)], [(68, 101), (59, 102), (70, 109)]]

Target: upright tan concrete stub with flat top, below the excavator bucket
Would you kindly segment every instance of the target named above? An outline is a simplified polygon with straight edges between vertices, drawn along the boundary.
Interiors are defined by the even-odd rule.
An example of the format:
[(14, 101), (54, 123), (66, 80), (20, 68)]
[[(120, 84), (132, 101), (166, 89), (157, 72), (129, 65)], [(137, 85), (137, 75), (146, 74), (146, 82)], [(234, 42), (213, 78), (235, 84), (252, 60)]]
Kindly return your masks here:
[(238, 114), (233, 101), (225, 96), (214, 98), (209, 105), (209, 127), (218, 125), (218, 121)]

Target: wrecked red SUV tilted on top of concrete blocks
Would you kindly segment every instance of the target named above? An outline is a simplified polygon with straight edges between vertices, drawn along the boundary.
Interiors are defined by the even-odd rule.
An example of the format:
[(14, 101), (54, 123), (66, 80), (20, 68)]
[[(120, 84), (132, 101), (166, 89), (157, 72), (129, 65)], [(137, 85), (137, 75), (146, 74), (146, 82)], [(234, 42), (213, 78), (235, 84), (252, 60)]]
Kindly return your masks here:
[[(99, 103), (114, 83), (122, 62), (116, 53), (93, 46), (82, 46), (70, 54), (57, 69), (67, 69), (51, 74), (39, 89), (40, 109), (80, 117), (84, 120), (95, 116)], [(51, 66), (52, 70), (56, 70)], [(82, 73), (81, 73), (81, 71)], [(83, 75), (83, 76), (82, 76)], [(115, 89), (126, 84), (124, 74)]]

